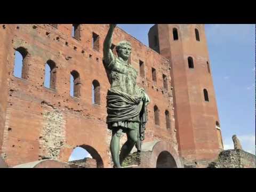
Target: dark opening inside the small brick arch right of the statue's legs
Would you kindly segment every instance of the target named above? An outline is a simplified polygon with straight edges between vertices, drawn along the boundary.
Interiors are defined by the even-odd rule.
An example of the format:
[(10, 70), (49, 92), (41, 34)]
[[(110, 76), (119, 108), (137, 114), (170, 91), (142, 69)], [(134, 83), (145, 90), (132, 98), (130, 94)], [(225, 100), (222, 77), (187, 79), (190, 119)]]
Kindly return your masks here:
[(177, 164), (168, 151), (162, 151), (157, 157), (156, 168), (177, 168)]

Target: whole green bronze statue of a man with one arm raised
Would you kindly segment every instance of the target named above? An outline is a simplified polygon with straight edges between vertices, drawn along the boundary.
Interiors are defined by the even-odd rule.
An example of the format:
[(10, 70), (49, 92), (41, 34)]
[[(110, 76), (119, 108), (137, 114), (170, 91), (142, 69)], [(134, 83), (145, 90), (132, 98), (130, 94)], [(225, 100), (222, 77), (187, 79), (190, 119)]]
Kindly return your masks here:
[[(114, 167), (122, 167), (122, 162), (134, 145), (138, 151), (141, 150), (150, 100), (145, 90), (136, 84), (138, 72), (128, 63), (131, 44), (119, 42), (116, 46), (118, 57), (110, 49), (115, 27), (116, 24), (109, 26), (103, 45), (103, 63), (111, 84), (107, 93), (107, 124), (112, 131), (110, 151)], [(127, 141), (119, 155), (119, 142), (123, 133), (126, 133)]]

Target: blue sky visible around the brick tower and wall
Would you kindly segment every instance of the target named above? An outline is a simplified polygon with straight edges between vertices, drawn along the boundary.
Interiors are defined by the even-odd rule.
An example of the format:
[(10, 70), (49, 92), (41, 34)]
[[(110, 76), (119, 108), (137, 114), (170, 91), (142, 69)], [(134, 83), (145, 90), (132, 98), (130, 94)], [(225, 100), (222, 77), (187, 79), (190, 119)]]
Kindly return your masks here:
[[(148, 46), (153, 24), (118, 27)], [(225, 149), (236, 134), (244, 150), (255, 154), (255, 25), (205, 25), (210, 65)], [(81, 148), (70, 160), (84, 158)]]

